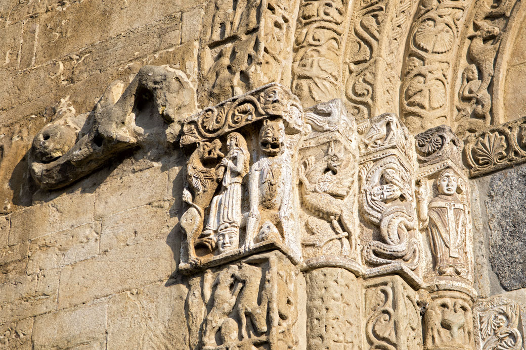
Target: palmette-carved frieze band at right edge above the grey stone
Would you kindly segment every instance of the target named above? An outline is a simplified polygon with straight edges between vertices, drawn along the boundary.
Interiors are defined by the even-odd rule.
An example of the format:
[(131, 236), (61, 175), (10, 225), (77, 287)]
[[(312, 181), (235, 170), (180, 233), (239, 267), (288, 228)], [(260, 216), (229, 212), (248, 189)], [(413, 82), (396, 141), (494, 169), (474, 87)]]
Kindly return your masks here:
[(526, 161), (526, 117), (469, 136), (464, 152), (471, 177)]

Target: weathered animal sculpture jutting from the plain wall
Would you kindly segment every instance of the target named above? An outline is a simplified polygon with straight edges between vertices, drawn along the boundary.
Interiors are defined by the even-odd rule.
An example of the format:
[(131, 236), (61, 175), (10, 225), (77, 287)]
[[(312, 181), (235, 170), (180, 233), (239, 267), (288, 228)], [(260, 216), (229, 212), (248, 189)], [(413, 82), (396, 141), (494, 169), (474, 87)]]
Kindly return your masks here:
[(145, 132), (135, 117), (141, 99), (153, 101), (158, 114), (170, 123), (168, 141), (179, 132), (179, 118), (197, 107), (195, 89), (183, 72), (144, 66), (131, 81), (112, 83), (89, 114), (58, 115), (35, 136), (29, 155), (35, 181), (45, 189), (67, 186), (117, 153), (140, 145)]

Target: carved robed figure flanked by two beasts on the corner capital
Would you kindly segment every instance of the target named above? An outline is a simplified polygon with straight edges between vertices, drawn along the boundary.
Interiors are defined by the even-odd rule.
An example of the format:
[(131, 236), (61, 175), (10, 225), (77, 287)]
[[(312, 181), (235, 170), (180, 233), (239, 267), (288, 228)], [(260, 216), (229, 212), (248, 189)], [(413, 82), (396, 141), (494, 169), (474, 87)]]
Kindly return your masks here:
[[(221, 152), (221, 142), (218, 139), (202, 142), (198, 146), (187, 165), (187, 180), (196, 194), (196, 200), (191, 199), (189, 192), (186, 192), (185, 198), (194, 208), (198, 208), (198, 220), (201, 224), (207, 217), (205, 229), (198, 237), (199, 243), (207, 245), (210, 250), (216, 250), (219, 254), (237, 250), (241, 223), (244, 223), (246, 228), (244, 244), (241, 247), (244, 250), (248, 250), (255, 243), (257, 233), (262, 235), (260, 240), (278, 234), (275, 225), (286, 216), (285, 212), (280, 212), (281, 200), (284, 198), (278, 195), (284, 193), (281, 174), (287, 173), (282, 169), (284, 163), (281, 159), (284, 137), (285, 127), (282, 121), (265, 119), (259, 133), (259, 150), (262, 155), (252, 166), (247, 142), (238, 132), (228, 134), (226, 155)], [(208, 163), (217, 161), (218, 158), (221, 160), (217, 165), (209, 167)], [(247, 177), (249, 210), (242, 213)], [(212, 197), (211, 194), (216, 192), (217, 187), (219, 190)], [(199, 200), (202, 195), (207, 198)], [(262, 218), (259, 210), (261, 206), (272, 211), (272, 214), (265, 216), (267, 220), (264, 227), (258, 231)], [(209, 212), (206, 215), (207, 208)], [(198, 234), (198, 231), (194, 234)], [(189, 244), (193, 245), (190, 242)]]

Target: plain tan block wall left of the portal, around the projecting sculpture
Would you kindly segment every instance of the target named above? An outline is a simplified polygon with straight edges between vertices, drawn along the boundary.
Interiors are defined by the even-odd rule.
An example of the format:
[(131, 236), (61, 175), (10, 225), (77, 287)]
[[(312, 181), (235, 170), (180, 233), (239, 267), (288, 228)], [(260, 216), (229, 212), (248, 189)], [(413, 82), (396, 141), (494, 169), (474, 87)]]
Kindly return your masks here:
[(170, 279), (180, 157), (139, 151), (49, 192), (31, 183), (27, 151), (60, 99), (82, 114), (113, 80), (145, 64), (170, 63), (195, 77), (203, 8), (201, 1), (0, 4), (0, 348), (188, 342), (175, 326), (184, 320), (186, 286)]

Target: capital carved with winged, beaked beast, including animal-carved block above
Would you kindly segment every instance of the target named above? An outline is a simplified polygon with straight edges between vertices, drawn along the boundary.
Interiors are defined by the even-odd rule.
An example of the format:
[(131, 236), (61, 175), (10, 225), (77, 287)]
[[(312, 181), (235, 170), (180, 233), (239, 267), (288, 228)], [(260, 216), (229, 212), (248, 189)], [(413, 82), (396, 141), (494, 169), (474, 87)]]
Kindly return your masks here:
[(311, 133), (299, 150), (302, 256), (342, 256), (358, 261), (356, 125), (341, 100), (308, 109)]

